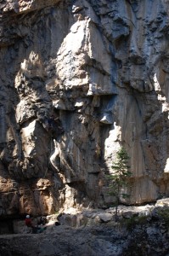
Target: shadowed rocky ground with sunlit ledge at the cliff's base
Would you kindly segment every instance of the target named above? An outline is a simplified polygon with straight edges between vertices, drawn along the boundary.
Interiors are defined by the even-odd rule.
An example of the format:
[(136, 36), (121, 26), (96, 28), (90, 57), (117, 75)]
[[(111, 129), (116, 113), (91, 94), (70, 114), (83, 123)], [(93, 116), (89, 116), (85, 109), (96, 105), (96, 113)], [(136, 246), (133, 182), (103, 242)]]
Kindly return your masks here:
[(120, 206), (118, 222), (114, 208), (75, 211), (63, 212), (57, 226), (57, 214), (48, 216), (40, 234), (1, 236), (0, 256), (169, 255), (168, 199), (154, 206)]

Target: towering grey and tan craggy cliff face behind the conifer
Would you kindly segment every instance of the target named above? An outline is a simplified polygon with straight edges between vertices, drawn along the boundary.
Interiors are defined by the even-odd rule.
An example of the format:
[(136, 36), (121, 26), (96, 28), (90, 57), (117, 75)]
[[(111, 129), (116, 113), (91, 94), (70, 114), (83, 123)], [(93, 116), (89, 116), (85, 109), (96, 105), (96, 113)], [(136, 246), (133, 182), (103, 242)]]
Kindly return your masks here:
[(128, 203), (169, 195), (169, 1), (0, 3), (0, 214), (106, 207), (130, 155)]

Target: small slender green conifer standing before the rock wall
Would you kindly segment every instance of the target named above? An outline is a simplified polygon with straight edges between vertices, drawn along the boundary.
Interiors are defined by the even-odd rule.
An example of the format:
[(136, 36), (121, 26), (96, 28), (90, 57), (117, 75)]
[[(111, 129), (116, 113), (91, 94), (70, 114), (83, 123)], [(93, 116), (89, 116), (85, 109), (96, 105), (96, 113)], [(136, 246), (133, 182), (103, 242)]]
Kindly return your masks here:
[(128, 171), (130, 166), (128, 166), (129, 156), (125, 148), (121, 147), (116, 153), (116, 159), (112, 163), (113, 172), (109, 174), (108, 180), (109, 184), (109, 194), (115, 197), (115, 221), (117, 221), (117, 209), (120, 202), (120, 198), (127, 198), (129, 195), (126, 193), (121, 193), (121, 189), (127, 188), (128, 177), (132, 175)]

